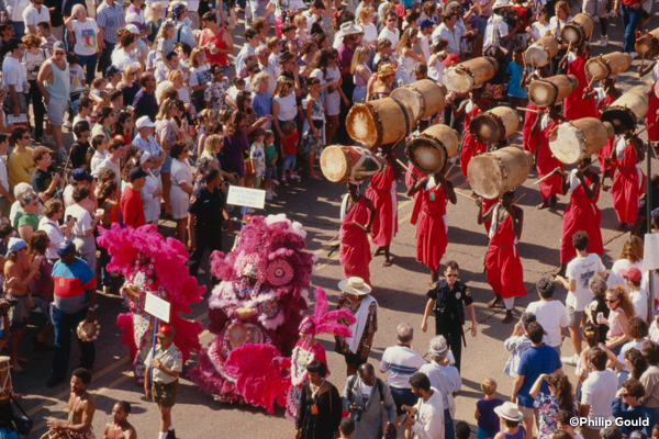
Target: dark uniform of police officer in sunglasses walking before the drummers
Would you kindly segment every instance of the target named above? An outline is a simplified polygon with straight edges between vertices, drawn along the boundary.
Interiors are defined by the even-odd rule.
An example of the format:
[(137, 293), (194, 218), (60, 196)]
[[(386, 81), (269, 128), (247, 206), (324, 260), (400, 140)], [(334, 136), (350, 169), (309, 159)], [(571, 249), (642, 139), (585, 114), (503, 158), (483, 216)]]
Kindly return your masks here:
[(435, 301), (435, 334), (444, 336), (448, 347), (456, 359), (456, 368), (460, 370), (460, 354), (462, 352), (462, 325), (465, 324), (465, 305), (471, 305), (469, 288), (456, 280), (453, 288), (448, 286), (446, 279), (435, 283), (435, 288), (426, 294)]

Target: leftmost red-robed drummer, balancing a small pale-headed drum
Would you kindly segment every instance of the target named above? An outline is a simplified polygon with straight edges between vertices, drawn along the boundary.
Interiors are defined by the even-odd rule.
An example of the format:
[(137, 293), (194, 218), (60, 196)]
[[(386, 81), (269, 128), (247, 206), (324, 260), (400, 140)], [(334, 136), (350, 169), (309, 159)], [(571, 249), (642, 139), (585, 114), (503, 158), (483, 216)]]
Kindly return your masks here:
[(359, 193), (359, 184), (348, 182), (347, 187), (346, 206), (342, 210), (343, 218), (338, 233), (338, 260), (345, 279), (356, 275), (372, 288), (368, 269), (372, 259), (368, 234), (376, 219), (376, 206)]

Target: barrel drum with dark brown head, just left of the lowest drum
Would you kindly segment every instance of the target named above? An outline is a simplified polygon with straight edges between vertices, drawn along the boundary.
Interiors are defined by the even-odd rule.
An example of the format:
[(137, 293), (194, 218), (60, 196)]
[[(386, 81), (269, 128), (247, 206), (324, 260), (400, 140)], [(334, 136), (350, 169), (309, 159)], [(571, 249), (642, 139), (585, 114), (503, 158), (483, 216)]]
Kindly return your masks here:
[(458, 153), (459, 145), (460, 136), (455, 130), (436, 124), (407, 143), (405, 156), (421, 171), (436, 173)]

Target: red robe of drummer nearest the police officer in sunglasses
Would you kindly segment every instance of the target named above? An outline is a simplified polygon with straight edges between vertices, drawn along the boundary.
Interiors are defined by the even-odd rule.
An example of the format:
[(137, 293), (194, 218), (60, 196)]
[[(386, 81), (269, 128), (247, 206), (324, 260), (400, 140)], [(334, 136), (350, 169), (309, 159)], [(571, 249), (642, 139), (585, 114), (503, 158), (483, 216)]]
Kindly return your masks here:
[[(496, 218), (499, 209), (503, 209), (501, 204), (494, 207), (492, 221)], [(513, 206), (513, 212), (517, 212), (517, 209), (520, 207)], [(492, 291), (503, 299), (526, 295), (517, 238), (510, 215), (505, 216), (496, 230), (490, 230), (490, 245), (485, 254), (488, 283)]]

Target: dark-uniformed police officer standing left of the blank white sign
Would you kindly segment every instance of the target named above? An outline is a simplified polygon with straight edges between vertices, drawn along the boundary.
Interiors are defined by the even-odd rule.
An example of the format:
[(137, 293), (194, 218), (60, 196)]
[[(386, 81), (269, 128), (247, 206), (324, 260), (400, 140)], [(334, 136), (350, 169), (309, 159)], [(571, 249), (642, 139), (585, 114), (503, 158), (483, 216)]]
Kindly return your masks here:
[(192, 192), (188, 207), (188, 247), (193, 250), (190, 256), (190, 275), (194, 277), (206, 248), (209, 254), (222, 250), (222, 219), (227, 221), (227, 232), (232, 229), (220, 171), (206, 170), (203, 181), (204, 184)]

